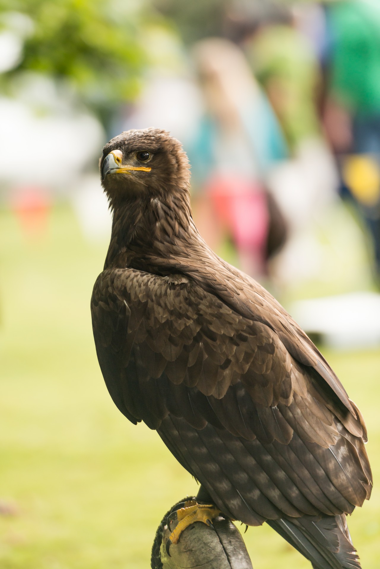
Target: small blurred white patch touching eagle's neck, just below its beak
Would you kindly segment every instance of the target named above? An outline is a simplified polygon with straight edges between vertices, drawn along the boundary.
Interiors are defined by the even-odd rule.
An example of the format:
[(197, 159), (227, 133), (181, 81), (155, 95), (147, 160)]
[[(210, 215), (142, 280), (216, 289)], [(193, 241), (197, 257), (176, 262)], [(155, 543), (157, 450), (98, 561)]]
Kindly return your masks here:
[(81, 230), (88, 241), (109, 240), (112, 215), (100, 184), (99, 175), (89, 174), (79, 180), (72, 193), (72, 203)]

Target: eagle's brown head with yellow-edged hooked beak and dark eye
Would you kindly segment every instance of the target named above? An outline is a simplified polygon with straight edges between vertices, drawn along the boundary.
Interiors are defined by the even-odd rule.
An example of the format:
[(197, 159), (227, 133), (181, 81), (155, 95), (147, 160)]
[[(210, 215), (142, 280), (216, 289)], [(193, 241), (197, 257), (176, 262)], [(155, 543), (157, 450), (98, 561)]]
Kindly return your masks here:
[(189, 189), (189, 160), (165, 130), (127, 130), (112, 138), (100, 158), (101, 183), (111, 205), (138, 197), (164, 197)]

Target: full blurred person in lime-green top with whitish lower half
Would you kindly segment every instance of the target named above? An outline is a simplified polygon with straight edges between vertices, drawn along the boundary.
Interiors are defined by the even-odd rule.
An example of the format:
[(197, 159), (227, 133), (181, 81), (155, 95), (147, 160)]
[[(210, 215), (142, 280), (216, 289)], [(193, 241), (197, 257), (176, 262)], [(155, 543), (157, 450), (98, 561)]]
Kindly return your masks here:
[[(337, 291), (332, 265), (345, 275), (346, 290), (370, 281), (361, 230), (338, 199), (338, 170), (321, 125), (323, 24), (323, 12), (310, 5), (236, 1), (226, 13), (226, 32), (247, 54), (288, 145), (288, 160), (267, 180), (289, 228), (285, 247), (271, 262), (277, 291), (288, 299), (301, 289)], [(344, 241), (347, 255), (340, 248)]]

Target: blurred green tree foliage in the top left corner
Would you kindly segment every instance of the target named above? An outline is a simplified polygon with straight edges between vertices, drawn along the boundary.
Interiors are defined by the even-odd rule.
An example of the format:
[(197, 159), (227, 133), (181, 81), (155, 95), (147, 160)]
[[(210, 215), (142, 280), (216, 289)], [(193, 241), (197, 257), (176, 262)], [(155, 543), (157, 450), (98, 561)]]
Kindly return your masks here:
[(32, 25), (3, 83), (25, 71), (66, 80), (103, 122), (137, 95), (148, 63), (141, 28), (158, 19), (144, 0), (0, 0), (2, 27), (15, 12)]

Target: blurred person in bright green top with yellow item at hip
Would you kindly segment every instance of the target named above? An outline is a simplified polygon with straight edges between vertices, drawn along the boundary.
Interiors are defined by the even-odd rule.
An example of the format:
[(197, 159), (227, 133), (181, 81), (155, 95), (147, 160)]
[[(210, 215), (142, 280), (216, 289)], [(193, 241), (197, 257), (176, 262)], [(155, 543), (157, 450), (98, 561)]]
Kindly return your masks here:
[(326, 5), (324, 126), (341, 167), (342, 194), (365, 221), (380, 283), (380, 4)]

